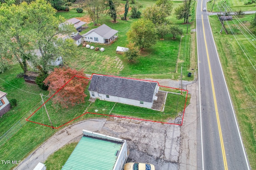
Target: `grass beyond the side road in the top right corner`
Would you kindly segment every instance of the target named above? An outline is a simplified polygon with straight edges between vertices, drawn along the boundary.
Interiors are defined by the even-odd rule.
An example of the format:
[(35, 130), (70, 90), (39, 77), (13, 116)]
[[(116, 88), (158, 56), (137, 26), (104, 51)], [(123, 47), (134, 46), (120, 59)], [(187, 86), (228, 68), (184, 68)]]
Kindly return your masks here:
[[(212, 10), (213, 2), (214, 0), (210, 0), (206, 4), (208, 11)], [(220, 9), (222, 9), (222, 12), (225, 11), (224, 2), (226, 2), (226, 4), (232, 9), (232, 12), (236, 12), (238, 10), (255, 11), (255, 4), (244, 5), (245, 3), (249, 2), (249, 0), (229, 0), (229, 1), (216, 0), (212, 12), (220, 12)], [(224, 5), (224, 7), (222, 5)], [(218, 8), (218, 6), (220, 9)], [(227, 11), (229, 11), (228, 8), (227, 8)]]

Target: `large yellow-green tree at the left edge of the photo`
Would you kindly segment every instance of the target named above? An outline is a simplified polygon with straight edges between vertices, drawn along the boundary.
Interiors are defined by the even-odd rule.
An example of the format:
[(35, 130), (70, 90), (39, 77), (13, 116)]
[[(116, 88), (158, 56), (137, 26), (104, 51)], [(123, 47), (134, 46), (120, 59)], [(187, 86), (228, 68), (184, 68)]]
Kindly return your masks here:
[(0, 8), (0, 16), (2, 16), (0, 17), (1, 48), (9, 51), (8, 54), (18, 61), (24, 72), (28, 71), (27, 61), (32, 56), (30, 37), (24, 30), (28, 17), (26, 6), (27, 4), (23, 2), (19, 6), (12, 4)]

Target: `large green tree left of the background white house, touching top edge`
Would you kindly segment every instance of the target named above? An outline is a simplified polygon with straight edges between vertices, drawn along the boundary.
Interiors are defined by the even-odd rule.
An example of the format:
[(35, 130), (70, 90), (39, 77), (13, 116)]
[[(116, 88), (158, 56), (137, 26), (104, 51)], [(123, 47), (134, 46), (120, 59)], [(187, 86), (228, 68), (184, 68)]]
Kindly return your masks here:
[[(55, 17), (56, 10), (45, 0), (31, 2), (27, 9), (28, 19), (27, 28), (30, 30), (30, 42), (35, 50), (40, 54), (34, 53), (31, 63), (43, 74), (52, 70), (50, 63), (58, 57), (66, 56), (66, 51), (75, 51), (74, 42), (71, 40), (58, 39), (59, 34), (70, 34), (74, 32), (73, 25), (59, 23), (64, 22), (64, 18)], [(64, 50), (63, 50), (64, 49)], [(69, 53), (70, 54), (70, 53)]]

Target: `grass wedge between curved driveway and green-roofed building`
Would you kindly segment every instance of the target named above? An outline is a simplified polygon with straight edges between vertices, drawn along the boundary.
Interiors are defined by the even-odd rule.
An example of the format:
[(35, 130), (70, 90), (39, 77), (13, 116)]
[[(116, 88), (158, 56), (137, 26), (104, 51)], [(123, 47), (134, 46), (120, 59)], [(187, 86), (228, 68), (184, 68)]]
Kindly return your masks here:
[(47, 170), (60, 170), (68, 160), (68, 157), (75, 149), (78, 142), (70, 143), (51, 154), (44, 164)]

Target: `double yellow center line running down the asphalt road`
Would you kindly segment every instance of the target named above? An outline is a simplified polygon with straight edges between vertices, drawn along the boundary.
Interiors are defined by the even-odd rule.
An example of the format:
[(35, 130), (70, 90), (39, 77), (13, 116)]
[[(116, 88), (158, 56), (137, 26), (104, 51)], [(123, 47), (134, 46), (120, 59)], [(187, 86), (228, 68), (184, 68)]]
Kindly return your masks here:
[(213, 84), (213, 79), (212, 79), (212, 70), (211, 70), (210, 59), (209, 59), (209, 54), (208, 54), (208, 49), (207, 49), (207, 44), (206, 44), (206, 38), (205, 38), (203, 15), (202, 15), (202, 24), (203, 24), (204, 43), (205, 43), (205, 48), (206, 48), (206, 55), (207, 55), (207, 59), (208, 59), (208, 65), (209, 65), (209, 70), (210, 70), (210, 78), (211, 78), (211, 83), (212, 83), (212, 94), (213, 94), (214, 106), (215, 106), (215, 111), (216, 111), (218, 130), (219, 130), (219, 135), (220, 135), (220, 145), (221, 145), (221, 150), (222, 150), (223, 163), (224, 163), (225, 170), (228, 170), (226, 153), (225, 153), (225, 148), (224, 148), (224, 143), (223, 143), (223, 138), (222, 138), (221, 127), (220, 127), (220, 118), (219, 118), (218, 107), (217, 107), (216, 96), (215, 96), (215, 90), (214, 90), (214, 84)]

